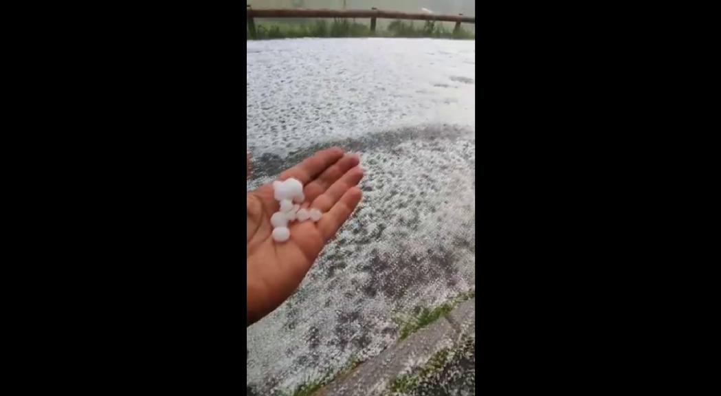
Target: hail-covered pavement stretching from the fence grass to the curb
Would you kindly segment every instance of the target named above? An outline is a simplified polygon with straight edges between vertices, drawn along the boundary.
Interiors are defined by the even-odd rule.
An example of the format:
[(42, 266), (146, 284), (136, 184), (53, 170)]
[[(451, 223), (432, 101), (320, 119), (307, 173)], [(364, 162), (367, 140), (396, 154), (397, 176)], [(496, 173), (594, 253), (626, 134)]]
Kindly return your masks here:
[(475, 288), (475, 42), (247, 42), (246, 89), (247, 190), (327, 146), (366, 170), (298, 293), (246, 331), (247, 390), (271, 395), (377, 356), (399, 318)]

